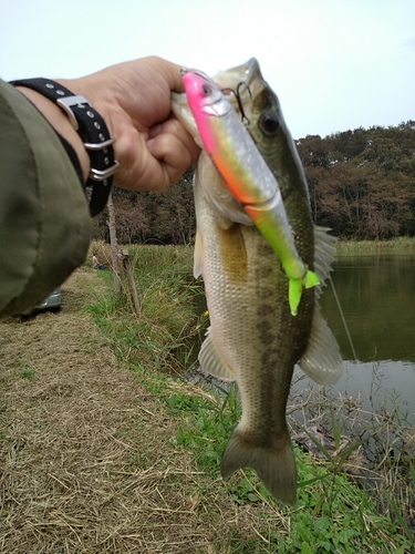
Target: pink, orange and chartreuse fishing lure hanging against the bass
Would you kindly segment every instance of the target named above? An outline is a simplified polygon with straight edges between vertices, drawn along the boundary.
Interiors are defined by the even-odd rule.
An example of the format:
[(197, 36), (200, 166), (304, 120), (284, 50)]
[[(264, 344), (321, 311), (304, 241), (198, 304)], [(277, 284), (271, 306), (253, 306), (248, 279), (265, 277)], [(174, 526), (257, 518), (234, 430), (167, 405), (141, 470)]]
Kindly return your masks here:
[(281, 260), (295, 316), (302, 290), (319, 279), (297, 252), (277, 179), (215, 82), (200, 71), (184, 71), (183, 82), (205, 152)]

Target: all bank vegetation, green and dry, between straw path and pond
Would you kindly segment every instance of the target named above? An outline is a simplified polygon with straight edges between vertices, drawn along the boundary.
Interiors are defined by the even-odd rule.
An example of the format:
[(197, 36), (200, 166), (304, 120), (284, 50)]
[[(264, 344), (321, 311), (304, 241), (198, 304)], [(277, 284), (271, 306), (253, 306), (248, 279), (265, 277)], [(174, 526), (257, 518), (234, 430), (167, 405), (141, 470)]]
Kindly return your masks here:
[[(190, 254), (188, 248), (131, 247), (142, 317), (132, 315), (126, 298), (114, 300), (110, 279), (107, 293), (89, 311), (120, 362), (135, 371), (176, 421), (177, 432), (169, 442), (191, 452), (224, 504), (251, 511), (258, 538), (236, 540), (230, 532), (217, 537), (220, 552), (411, 552), (414, 453), (411, 429), (403, 424), (397, 407), (367, 414), (359, 399), (330, 398), (325, 391), (308, 390), (294, 398), (289, 408), (293, 438), (299, 441), (302, 433), (313, 447), (308, 453), (294, 443), (299, 482), (294, 509), (277, 504), (249, 469), (228, 481), (218, 480), (221, 452), (241, 409), (235, 384), (206, 390), (178, 379), (194, 358), (190, 345), (208, 322), (207, 315), (200, 317), (195, 309), (200, 288), (190, 277)], [(331, 444), (311, 432), (311, 425), (321, 429)], [(209, 512), (209, 505), (204, 509)]]

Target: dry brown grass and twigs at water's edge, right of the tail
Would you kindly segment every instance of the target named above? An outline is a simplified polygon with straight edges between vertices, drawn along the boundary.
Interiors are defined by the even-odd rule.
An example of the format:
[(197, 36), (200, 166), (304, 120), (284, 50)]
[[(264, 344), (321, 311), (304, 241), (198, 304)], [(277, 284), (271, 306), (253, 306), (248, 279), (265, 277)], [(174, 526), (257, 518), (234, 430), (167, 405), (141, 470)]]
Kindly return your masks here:
[(325, 394), (315, 387), (292, 399), (288, 421), (302, 450), (317, 461), (331, 456), (333, 466), (342, 468), (352, 481), (371, 492), (378, 513), (387, 514), (390, 499), (395, 499), (401, 515), (415, 531), (415, 490), (409, 468), (409, 461), (415, 459), (415, 427), (400, 417), (398, 407), (396, 413), (385, 408), (366, 411), (360, 396)]

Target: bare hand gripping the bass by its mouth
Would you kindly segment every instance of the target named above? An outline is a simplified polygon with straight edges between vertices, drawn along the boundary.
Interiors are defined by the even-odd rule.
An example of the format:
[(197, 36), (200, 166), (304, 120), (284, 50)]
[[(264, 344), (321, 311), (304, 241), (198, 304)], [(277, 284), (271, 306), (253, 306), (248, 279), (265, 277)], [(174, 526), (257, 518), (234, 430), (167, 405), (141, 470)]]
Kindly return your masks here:
[(115, 185), (162, 192), (197, 161), (198, 146), (170, 111), (170, 92), (184, 91), (179, 70), (152, 57), (80, 79), (58, 79), (90, 102), (116, 138)]

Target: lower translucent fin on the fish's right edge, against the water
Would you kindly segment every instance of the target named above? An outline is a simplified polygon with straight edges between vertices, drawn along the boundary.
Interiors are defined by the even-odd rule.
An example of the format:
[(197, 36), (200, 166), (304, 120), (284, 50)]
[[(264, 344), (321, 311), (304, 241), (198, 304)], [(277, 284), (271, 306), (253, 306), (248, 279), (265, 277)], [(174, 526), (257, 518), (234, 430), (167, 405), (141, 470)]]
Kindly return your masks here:
[(338, 341), (318, 308), (309, 346), (299, 366), (319, 384), (334, 384), (342, 375), (343, 361)]

